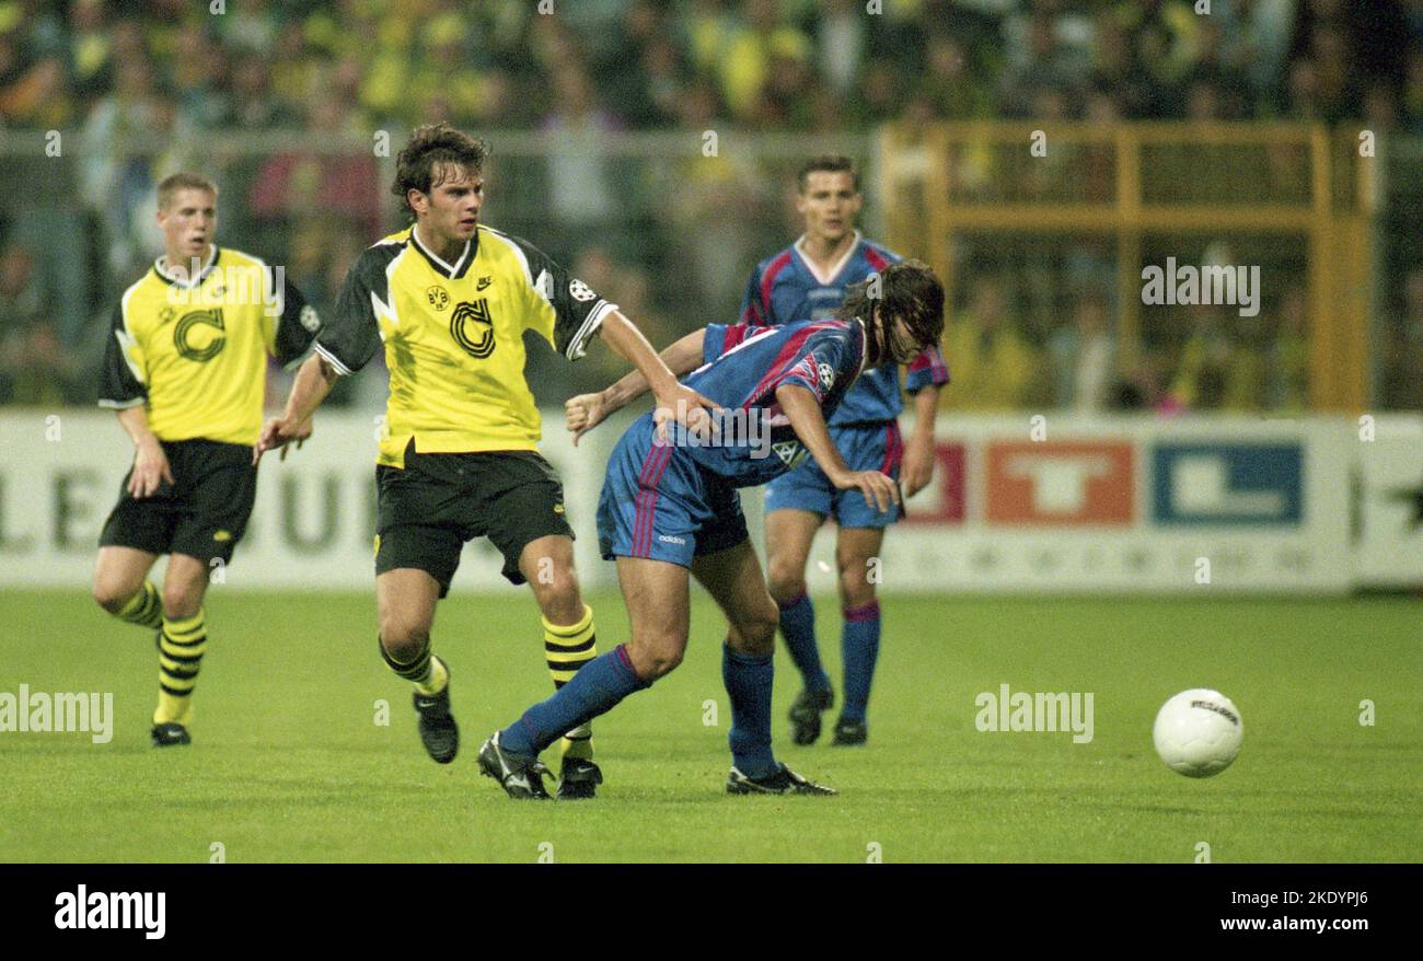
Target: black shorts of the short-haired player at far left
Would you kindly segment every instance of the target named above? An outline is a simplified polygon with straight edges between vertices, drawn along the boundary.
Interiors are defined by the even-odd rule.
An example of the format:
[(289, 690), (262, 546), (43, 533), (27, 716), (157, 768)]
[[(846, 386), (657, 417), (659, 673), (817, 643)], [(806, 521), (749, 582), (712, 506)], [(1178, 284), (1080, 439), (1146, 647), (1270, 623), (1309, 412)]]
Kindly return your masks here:
[(246, 444), (215, 440), (159, 441), (174, 483), (161, 481), (142, 500), (128, 493), (129, 468), (118, 504), (98, 535), (100, 547), (132, 547), (149, 554), (188, 554), (199, 561), (232, 560), (248, 530), (258, 495), (258, 468)]

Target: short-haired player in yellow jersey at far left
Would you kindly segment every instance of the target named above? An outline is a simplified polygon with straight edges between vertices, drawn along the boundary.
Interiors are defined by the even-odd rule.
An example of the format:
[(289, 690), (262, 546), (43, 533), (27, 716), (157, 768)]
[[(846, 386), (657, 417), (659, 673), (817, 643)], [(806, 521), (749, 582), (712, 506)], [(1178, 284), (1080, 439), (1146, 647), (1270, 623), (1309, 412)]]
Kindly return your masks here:
[[(256, 494), (266, 357), (295, 364), (320, 329), (280, 268), (219, 248), (218, 188), (158, 185), (164, 256), (114, 310), (100, 404), (118, 411), (134, 466), (100, 535), (94, 599), (158, 638), (155, 746), (186, 745), (208, 641), (208, 578), (232, 560)], [(148, 579), (168, 554), (162, 591)]]

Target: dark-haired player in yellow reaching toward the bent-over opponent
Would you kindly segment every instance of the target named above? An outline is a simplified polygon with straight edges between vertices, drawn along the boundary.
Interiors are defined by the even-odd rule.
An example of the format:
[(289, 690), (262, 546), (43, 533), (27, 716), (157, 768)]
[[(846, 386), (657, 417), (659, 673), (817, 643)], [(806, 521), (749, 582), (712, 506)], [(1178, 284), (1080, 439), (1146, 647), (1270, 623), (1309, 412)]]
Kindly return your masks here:
[[(351, 266), (316, 356), (297, 373), (282, 417), (255, 457), (310, 434), (336, 377), (384, 345), (390, 370), (386, 436), (376, 466), (376, 601), (380, 652), (414, 682), (421, 742), (454, 760), (450, 669), (431, 652), (435, 604), (450, 591), (465, 541), (488, 537), (504, 577), (528, 585), (542, 612), (555, 688), (598, 653), (593, 612), (573, 571), (564, 490), (538, 454), (541, 424), (524, 379), (524, 332), (569, 360), (598, 335), (630, 360), (666, 410), (694, 429), (709, 403), (676, 382), (642, 333), (538, 248), (480, 224), (481, 141), (448, 124), (420, 127), (397, 159), (393, 191), (414, 224)], [(592, 797), (602, 773), (586, 726), (562, 739), (558, 796)]]

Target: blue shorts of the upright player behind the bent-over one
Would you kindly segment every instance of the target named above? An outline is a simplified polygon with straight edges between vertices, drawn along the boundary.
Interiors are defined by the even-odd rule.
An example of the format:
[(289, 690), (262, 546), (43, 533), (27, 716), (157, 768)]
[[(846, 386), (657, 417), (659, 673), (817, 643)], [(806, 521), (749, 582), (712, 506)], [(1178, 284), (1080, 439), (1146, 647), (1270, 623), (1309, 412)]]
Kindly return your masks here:
[[(904, 458), (899, 421), (831, 427), (830, 439), (850, 470), (877, 470), (899, 480), (899, 461)], [(888, 527), (901, 515), (895, 504), (881, 514), (859, 490), (837, 490), (814, 457), (807, 457), (800, 467), (766, 485), (766, 510), (830, 515), (841, 527)]]

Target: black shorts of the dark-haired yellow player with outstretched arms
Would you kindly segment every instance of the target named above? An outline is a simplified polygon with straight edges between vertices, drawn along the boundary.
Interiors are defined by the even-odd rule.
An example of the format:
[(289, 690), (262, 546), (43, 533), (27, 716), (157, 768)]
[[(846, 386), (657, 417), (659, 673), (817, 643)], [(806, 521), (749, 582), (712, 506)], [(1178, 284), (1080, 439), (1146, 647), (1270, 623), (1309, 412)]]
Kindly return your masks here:
[(376, 467), (376, 574), (413, 567), (440, 582), (460, 567), (465, 541), (488, 537), (504, 555), (502, 574), (524, 584), (519, 554), (549, 534), (572, 540), (564, 484), (531, 450), (421, 454), (411, 440), (406, 468)]

